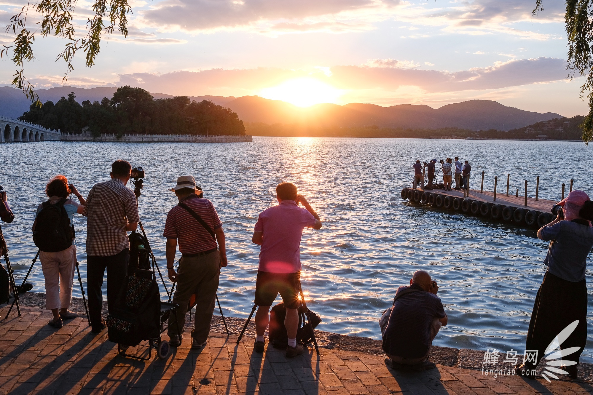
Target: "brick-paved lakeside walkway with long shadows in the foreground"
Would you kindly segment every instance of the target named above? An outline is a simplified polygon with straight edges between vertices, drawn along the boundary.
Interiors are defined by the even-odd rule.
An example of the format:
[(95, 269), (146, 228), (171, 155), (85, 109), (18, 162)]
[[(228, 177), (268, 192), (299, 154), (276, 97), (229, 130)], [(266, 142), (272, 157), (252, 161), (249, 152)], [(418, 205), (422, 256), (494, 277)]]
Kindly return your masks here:
[[(7, 307), (0, 308), (2, 318)], [(245, 339), (211, 333), (201, 351), (183, 346), (167, 359), (137, 361), (117, 355), (107, 332), (91, 333), (82, 318), (61, 329), (47, 326), (48, 311), (22, 307), (0, 321), (0, 395), (3, 394), (574, 394), (588, 383), (493, 378), (481, 371), (439, 365), (426, 372), (387, 369), (360, 352), (312, 349), (286, 359), (269, 347), (252, 353)]]

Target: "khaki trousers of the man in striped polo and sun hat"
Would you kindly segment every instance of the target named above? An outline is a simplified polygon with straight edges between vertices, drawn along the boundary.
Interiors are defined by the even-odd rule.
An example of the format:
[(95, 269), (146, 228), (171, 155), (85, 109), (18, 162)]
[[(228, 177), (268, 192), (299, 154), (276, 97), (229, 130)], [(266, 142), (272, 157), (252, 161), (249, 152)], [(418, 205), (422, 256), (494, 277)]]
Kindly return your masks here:
[(173, 303), (178, 304), (179, 307), (176, 310), (177, 314), (171, 314), (169, 317), (167, 330), (169, 337), (177, 335), (176, 317), (179, 332), (183, 333), (187, 303), (190, 297), (195, 294), (196, 314), (192, 337), (199, 343), (208, 340), (210, 321), (212, 321), (216, 301), (216, 290), (218, 289), (220, 262), (219, 251), (212, 251), (207, 255), (196, 257), (181, 257), (177, 270), (177, 289), (173, 295)]

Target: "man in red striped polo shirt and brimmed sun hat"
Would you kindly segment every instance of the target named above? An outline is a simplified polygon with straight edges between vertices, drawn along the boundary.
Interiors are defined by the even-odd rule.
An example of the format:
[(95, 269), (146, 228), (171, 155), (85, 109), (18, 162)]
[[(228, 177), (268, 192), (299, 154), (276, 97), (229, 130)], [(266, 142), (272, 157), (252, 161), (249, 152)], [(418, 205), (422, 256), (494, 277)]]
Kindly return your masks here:
[[(227, 266), (225, 235), (216, 209), (208, 199), (201, 199), (202, 189), (192, 176), (181, 176), (175, 192), (179, 204), (167, 214), (163, 236), (167, 238), (167, 270), (169, 279), (177, 283), (173, 303), (178, 304), (176, 314), (169, 317), (169, 344), (178, 346), (183, 333), (187, 304), (196, 295), (195, 326), (192, 330), (192, 348), (200, 349), (208, 341), (210, 321), (214, 312), (220, 268)], [(177, 272), (173, 267), (177, 252), (181, 259)], [(175, 325), (177, 324), (177, 326)]]

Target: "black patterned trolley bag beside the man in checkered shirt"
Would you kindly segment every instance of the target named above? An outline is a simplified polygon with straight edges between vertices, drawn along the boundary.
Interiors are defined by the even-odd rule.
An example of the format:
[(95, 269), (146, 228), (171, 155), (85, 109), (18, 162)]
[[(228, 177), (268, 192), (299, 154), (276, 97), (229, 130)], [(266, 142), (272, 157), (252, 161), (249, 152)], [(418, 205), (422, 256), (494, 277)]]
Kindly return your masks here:
[(136, 346), (142, 340), (155, 339), (161, 335), (161, 297), (158, 283), (152, 275), (136, 270), (134, 276), (126, 276), (119, 291), (115, 307), (107, 316), (109, 341), (126, 346)]

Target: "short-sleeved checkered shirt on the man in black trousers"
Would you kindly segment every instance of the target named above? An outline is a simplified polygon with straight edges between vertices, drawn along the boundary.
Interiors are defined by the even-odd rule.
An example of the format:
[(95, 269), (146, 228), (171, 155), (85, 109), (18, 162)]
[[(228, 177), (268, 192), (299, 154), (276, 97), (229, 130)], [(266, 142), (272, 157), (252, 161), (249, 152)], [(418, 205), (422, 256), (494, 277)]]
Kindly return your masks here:
[(126, 224), (140, 220), (136, 196), (118, 179), (95, 184), (82, 215), (88, 217), (88, 256), (111, 256), (129, 248)]

